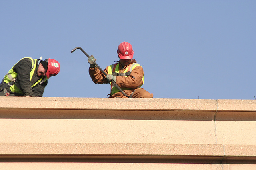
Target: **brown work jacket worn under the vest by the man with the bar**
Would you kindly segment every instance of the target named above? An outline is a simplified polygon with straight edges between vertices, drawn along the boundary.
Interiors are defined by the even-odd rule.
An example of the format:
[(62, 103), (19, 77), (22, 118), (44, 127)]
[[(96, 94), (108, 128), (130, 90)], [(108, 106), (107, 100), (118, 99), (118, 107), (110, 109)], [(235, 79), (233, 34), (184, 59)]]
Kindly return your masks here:
[[(119, 61), (118, 61), (119, 62)], [(137, 63), (135, 59), (131, 60), (131, 63)], [(128, 65), (129, 66), (129, 65)], [(122, 67), (121, 64), (119, 64), (119, 72), (124, 73), (124, 70), (128, 67), (125, 66), (124, 68)], [(108, 66), (105, 68), (104, 72), (108, 74)], [(95, 84), (103, 84), (103, 83), (108, 83), (107, 80), (105, 79), (106, 76), (97, 68), (97, 67), (90, 67), (89, 68), (89, 74), (90, 77), (92, 78), (92, 81)], [(136, 66), (135, 68), (132, 69), (131, 74), (127, 77), (125, 76), (116, 76), (116, 84), (120, 88), (132, 88), (132, 90), (124, 90), (124, 93), (130, 96), (134, 90), (140, 85), (143, 84), (143, 68), (142, 66)], [(122, 97), (124, 96), (121, 92), (117, 92), (110, 96), (110, 98), (114, 97)]]

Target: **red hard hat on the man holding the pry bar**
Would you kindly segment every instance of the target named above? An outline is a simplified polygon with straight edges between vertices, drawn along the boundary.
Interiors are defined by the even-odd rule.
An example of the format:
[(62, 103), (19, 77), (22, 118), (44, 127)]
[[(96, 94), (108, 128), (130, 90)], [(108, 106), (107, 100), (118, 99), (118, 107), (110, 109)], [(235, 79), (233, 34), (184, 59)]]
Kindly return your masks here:
[(128, 42), (122, 42), (118, 45), (117, 54), (122, 60), (132, 59), (133, 49), (132, 45)]

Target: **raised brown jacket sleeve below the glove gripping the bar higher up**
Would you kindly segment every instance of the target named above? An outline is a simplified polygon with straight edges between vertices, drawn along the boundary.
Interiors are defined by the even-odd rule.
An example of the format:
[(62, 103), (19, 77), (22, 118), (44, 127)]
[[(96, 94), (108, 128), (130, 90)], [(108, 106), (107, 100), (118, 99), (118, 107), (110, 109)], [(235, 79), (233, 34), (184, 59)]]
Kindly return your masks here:
[[(108, 74), (108, 67), (105, 68), (104, 72)], [(97, 67), (90, 67), (89, 68), (89, 75), (92, 78), (92, 81), (95, 84), (103, 84), (103, 83), (108, 83), (106, 80), (106, 76), (98, 69)]]

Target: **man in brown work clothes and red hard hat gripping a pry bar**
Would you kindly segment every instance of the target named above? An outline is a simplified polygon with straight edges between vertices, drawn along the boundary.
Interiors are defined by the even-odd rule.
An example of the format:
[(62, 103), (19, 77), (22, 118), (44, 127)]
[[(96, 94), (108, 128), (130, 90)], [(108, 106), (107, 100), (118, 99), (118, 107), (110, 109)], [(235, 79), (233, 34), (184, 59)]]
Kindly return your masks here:
[(90, 63), (89, 74), (92, 81), (96, 84), (110, 83), (110, 98), (127, 98), (116, 86), (113, 86), (111, 80), (124, 91), (130, 98), (153, 98), (153, 94), (141, 88), (144, 83), (144, 72), (142, 66), (132, 59), (134, 51), (132, 45), (128, 42), (122, 42), (118, 45), (117, 54), (119, 61), (116, 64), (107, 66), (104, 72), (105, 76), (95, 65), (96, 59), (91, 55), (88, 57)]

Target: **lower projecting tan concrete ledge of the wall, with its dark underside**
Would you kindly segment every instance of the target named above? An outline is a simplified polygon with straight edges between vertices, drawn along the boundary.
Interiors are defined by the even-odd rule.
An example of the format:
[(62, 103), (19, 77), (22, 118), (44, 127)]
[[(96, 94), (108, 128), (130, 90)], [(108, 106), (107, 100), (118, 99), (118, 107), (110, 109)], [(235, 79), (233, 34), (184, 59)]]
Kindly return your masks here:
[[(234, 152), (236, 150), (236, 152)], [(119, 162), (137, 159), (137, 162), (252, 163), (256, 161), (255, 145), (193, 145), (193, 144), (130, 144), (130, 143), (1, 143), (0, 162), (8, 159), (46, 158), (81, 159), (99, 162)], [(42, 159), (40, 161), (40, 159)], [(139, 159), (139, 161), (138, 161)], [(74, 162), (73, 160), (73, 162)], [(27, 160), (30, 161), (30, 160)], [(69, 160), (70, 161), (70, 160)], [(94, 160), (95, 162), (96, 160)], [(134, 160), (133, 160), (134, 161)], [(19, 161), (18, 161), (19, 162)], [(65, 161), (64, 161), (65, 162)]]

